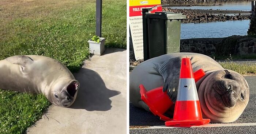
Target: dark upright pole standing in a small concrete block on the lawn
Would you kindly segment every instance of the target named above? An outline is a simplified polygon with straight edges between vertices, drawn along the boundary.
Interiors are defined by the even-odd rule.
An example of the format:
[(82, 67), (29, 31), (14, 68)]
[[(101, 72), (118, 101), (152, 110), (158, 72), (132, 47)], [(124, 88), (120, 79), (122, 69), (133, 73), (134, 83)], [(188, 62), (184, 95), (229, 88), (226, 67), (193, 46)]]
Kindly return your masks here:
[(96, 0), (96, 35), (101, 37), (102, 0)]

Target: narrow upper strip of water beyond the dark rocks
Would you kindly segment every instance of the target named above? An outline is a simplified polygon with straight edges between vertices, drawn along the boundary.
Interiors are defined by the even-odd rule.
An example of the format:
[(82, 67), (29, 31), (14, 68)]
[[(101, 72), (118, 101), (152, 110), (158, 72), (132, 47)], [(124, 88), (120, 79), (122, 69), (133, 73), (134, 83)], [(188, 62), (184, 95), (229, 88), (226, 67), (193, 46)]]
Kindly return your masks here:
[[(180, 3), (177, 3), (180, 4)], [(211, 5), (211, 6), (192, 6), (192, 7), (170, 7), (173, 9), (221, 9), (221, 10), (238, 10), (238, 11), (251, 11), (252, 2), (251, 1), (241, 1), (241, 2), (203, 2), (203, 3), (182, 3), (182, 5)], [(223, 5), (213, 5), (213, 4), (223, 4)], [(175, 4), (172, 4), (175, 5)]]

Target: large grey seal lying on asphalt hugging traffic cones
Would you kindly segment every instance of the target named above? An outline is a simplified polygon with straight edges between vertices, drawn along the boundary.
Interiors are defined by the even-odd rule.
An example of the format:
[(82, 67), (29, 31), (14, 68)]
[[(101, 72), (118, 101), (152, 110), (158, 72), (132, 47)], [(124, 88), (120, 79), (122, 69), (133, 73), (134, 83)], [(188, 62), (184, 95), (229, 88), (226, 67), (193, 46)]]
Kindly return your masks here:
[(175, 103), (182, 58), (190, 58), (193, 72), (202, 68), (206, 75), (196, 82), (203, 118), (211, 122), (233, 122), (240, 117), (249, 101), (249, 86), (244, 77), (226, 70), (212, 58), (195, 53), (158, 56), (139, 64), (130, 73), (129, 95), (133, 105), (149, 111), (140, 99), (139, 85), (147, 90), (163, 86)]

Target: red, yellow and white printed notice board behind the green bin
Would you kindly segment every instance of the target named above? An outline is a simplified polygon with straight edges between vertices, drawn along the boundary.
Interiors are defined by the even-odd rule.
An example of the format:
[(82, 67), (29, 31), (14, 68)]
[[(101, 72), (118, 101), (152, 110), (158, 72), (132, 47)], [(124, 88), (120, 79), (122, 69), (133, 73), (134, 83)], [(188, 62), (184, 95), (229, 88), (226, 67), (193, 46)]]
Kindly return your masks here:
[[(151, 8), (161, 5), (161, 0), (129, 0), (129, 26), (135, 59), (143, 59), (143, 25), (142, 25), (142, 8)], [(154, 7), (154, 12), (161, 12), (162, 7)]]

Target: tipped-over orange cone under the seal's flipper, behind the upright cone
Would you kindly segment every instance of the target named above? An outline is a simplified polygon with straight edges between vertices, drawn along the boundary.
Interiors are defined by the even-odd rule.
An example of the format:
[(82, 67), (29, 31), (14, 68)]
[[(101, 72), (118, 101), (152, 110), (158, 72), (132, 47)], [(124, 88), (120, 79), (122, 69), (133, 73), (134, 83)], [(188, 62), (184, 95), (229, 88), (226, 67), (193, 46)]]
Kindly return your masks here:
[[(205, 73), (202, 69), (194, 72), (196, 81), (202, 78)], [(160, 117), (163, 121), (170, 120), (169, 117), (165, 116), (164, 113), (170, 109), (173, 105), (173, 102), (167, 95), (167, 91), (163, 92), (163, 86), (154, 88), (150, 91), (147, 91), (143, 84), (140, 84), (140, 96), (143, 102), (147, 104), (149, 110), (154, 114)]]

